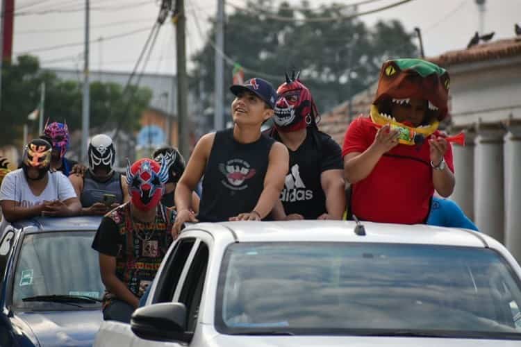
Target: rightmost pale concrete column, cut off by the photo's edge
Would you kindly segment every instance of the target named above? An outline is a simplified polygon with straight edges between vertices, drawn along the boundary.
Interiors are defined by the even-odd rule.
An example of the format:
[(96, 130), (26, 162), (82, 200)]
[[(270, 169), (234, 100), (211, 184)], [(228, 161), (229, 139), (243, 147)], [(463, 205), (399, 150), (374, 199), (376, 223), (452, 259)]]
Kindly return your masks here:
[[(507, 121), (505, 246), (521, 262), (521, 120)], [(508, 163), (508, 165), (507, 165)]]

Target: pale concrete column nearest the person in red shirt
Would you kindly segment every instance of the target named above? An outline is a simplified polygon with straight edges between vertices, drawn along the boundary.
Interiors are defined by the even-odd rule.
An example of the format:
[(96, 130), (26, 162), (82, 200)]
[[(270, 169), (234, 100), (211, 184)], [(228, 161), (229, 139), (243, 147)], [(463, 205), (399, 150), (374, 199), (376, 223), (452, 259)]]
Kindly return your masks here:
[(452, 128), (452, 135), (465, 132), (465, 146), (454, 144), (454, 174), (456, 186), (451, 199), (474, 221), (474, 141), (476, 130), (470, 128)]

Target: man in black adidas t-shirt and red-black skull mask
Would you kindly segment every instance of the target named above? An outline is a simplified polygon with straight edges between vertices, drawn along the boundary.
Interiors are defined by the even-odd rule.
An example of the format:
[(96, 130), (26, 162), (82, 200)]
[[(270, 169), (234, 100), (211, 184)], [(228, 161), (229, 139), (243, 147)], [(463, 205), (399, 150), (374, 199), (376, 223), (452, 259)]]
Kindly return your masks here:
[(267, 135), (282, 142), (290, 153), (280, 201), (274, 219), (342, 219), (345, 181), (342, 150), (317, 127), (317, 106), (311, 91), (299, 79), (286, 74), (277, 90), (274, 127)]

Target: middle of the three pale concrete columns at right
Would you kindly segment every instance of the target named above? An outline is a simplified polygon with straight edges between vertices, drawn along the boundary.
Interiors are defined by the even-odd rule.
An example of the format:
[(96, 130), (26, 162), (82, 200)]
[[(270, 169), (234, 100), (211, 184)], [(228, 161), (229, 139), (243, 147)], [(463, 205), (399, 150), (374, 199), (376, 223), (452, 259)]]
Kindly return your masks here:
[(479, 231), (504, 242), (502, 124), (478, 124), (475, 148), (474, 213)]

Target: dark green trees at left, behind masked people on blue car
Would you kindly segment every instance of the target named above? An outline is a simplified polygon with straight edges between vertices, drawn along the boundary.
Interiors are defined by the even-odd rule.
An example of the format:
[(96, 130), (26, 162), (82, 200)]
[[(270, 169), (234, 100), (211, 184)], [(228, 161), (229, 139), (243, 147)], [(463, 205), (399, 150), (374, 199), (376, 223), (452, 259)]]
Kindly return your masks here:
[[(81, 129), (82, 85), (63, 81), (51, 71), (40, 69), (38, 58), (19, 56), (16, 63), (2, 67), (0, 146), (18, 143), (27, 115), (40, 104), (40, 85), (45, 82), (44, 118), (67, 121), (70, 131)], [(129, 97), (130, 96), (130, 97)], [(152, 93), (148, 88), (131, 86), (126, 96), (117, 83), (90, 83), (90, 128), (110, 128), (119, 124), (124, 130), (139, 128), (139, 119)], [(33, 135), (38, 121), (31, 124)]]

